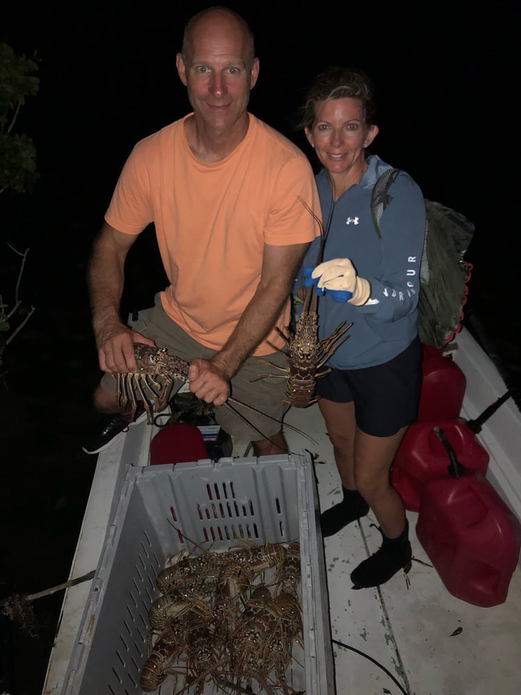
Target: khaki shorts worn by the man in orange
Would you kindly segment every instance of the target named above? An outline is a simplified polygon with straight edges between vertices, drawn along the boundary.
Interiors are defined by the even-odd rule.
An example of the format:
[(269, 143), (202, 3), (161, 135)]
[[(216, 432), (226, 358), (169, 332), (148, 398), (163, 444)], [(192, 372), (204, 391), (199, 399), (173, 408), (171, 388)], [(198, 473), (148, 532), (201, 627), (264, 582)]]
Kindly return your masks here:
[[(140, 311), (138, 319), (131, 322), (131, 328), (151, 338), (158, 347), (166, 347), (169, 354), (188, 362), (196, 357), (210, 359), (216, 352), (197, 343), (167, 316), (159, 294), (156, 295), (154, 307)], [(288, 409), (287, 375), (281, 372), (281, 369), (287, 368), (288, 360), (281, 352), (273, 352), (263, 357), (249, 357), (231, 379), (232, 398), (245, 406), (239, 406), (235, 402), (230, 405), (250, 424), (243, 422), (226, 405), (221, 405), (215, 408), (215, 419), (223, 430), (231, 436), (250, 441), (269, 439), (279, 432), (281, 420)], [(274, 377), (265, 377), (267, 374)], [(184, 383), (175, 379), (169, 398), (179, 391)], [(116, 394), (116, 380), (112, 375), (105, 374), (101, 379), (101, 386), (108, 393)], [(259, 412), (250, 410), (248, 406)]]

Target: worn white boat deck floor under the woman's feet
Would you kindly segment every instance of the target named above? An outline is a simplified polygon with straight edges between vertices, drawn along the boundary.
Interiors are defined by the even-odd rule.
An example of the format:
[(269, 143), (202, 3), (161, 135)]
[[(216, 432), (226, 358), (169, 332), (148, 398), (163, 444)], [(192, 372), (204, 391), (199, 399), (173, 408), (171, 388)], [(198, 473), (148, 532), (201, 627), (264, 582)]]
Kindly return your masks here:
[[(290, 411), (288, 423), (318, 444), (287, 432), (290, 448), (316, 454), (320, 507), (340, 500), (333, 450), (316, 406)], [(349, 574), (381, 542), (371, 513), (324, 539), (338, 695), (519, 695), (521, 570), (502, 605), (482, 608), (445, 589), (407, 512), (413, 567), (379, 589), (353, 590)], [(345, 646), (340, 646), (342, 645)]]

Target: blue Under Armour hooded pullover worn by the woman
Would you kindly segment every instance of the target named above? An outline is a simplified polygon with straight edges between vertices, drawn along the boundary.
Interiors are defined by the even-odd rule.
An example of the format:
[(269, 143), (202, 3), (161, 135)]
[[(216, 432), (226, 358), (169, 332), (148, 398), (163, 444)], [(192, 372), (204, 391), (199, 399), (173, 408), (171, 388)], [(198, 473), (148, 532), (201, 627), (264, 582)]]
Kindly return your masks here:
[[(372, 222), (371, 193), (389, 168), (378, 156), (370, 155), (361, 181), (334, 203), (328, 172), (322, 169), (316, 177), (326, 234), (324, 252), (320, 259), (320, 240), (315, 239), (302, 269), (349, 258), (358, 276), (371, 284), (370, 298), (363, 306), (335, 302), (327, 293), (318, 297), (320, 340), (329, 337), (340, 322), (353, 322), (346, 334), (349, 338), (327, 362), (329, 367), (358, 369), (383, 364), (403, 352), (417, 336), (424, 198), (417, 183), (400, 172), (389, 189), (390, 203), (380, 221), (380, 238)], [(297, 286), (302, 285), (302, 275), (299, 273)]]

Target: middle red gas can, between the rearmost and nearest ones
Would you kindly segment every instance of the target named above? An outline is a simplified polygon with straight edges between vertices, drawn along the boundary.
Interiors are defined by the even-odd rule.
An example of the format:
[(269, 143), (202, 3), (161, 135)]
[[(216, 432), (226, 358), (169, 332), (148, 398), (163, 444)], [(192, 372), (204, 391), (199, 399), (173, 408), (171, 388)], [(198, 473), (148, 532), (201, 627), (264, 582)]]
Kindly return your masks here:
[(417, 512), (424, 483), (432, 477), (447, 474), (449, 458), (435, 428), (441, 427), (456, 457), (470, 471), (483, 475), (489, 456), (463, 418), (440, 420), (436, 423), (413, 423), (399, 445), (392, 462), (390, 480), (404, 500), (406, 509)]

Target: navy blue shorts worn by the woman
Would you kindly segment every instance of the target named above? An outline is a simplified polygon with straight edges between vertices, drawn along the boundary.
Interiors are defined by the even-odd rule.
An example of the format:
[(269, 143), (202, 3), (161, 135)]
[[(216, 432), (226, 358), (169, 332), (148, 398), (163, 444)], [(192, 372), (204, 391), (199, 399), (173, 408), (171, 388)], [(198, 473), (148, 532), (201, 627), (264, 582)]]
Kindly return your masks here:
[(356, 424), (373, 436), (391, 436), (417, 417), (422, 386), (419, 338), (396, 357), (375, 367), (333, 369), (317, 379), (317, 396), (354, 402)]

